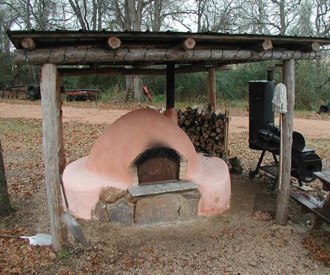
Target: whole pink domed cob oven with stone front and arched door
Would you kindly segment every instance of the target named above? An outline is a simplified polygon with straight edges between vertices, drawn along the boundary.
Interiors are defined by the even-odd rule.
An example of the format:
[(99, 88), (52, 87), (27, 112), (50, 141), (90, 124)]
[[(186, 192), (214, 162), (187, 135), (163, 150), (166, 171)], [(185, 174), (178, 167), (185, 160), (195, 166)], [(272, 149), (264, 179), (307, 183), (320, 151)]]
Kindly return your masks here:
[(196, 153), (174, 109), (125, 114), (65, 168), (63, 182), (75, 217), (127, 225), (187, 221), (230, 203), (228, 166)]

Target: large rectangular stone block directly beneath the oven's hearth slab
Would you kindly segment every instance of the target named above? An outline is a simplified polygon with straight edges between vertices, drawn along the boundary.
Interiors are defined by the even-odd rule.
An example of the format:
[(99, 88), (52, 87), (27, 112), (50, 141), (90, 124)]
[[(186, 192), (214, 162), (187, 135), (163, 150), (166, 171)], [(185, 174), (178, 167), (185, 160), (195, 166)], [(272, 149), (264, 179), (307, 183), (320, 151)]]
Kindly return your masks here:
[(197, 217), (198, 198), (171, 193), (141, 198), (135, 206), (134, 222), (139, 226), (187, 221)]

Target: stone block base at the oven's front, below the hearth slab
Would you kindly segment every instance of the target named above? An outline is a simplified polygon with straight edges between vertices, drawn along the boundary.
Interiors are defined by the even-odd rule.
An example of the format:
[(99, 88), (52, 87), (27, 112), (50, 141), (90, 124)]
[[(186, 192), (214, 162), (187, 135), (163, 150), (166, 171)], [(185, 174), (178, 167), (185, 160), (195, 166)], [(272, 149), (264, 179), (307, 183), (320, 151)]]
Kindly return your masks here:
[(162, 189), (159, 194), (134, 197), (127, 193), (114, 203), (102, 201), (101, 198), (107, 197), (103, 193), (93, 208), (94, 219), (137, 226), (155, 226), (196, 219), (198, 201), (201, 198), (201, 193), (192, 186), (188, 190), (164, 193)]

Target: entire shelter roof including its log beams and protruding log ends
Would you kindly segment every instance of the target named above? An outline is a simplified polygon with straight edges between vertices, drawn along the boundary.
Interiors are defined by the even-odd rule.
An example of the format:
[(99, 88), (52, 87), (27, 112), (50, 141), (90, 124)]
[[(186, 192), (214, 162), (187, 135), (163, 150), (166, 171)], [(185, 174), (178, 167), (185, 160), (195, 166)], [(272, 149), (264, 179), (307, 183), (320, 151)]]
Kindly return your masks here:
[[(320, 58), (320, 46), (330, 38), (265, 36), (230, 33), (150, 31), (7, 31), (15, 45), (15, 63), (87, 65), (62, 75), (164, 74), (143, 69), (167, 62), (184, 68), (175, 72), (205, 71), (223, 65), (266, 60)], [(114, 44), (111, 44), (114, 42)], [(118, 68), (134, 65), (134, 70)], [(109, 67), (112, 66), (112, 67)], [(178, 68), (178, 67), (177, 67)]]

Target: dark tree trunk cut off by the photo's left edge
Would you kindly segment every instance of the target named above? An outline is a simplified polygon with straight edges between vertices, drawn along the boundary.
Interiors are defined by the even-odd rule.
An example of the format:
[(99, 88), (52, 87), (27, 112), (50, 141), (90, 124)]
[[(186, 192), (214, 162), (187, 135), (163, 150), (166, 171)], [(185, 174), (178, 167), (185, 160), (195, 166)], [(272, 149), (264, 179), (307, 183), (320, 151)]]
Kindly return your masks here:
[(6, 171), (3, 163), (2, 146), (0, 140), (0, 217), (8, 216), (13, 212), (7, 189)]

